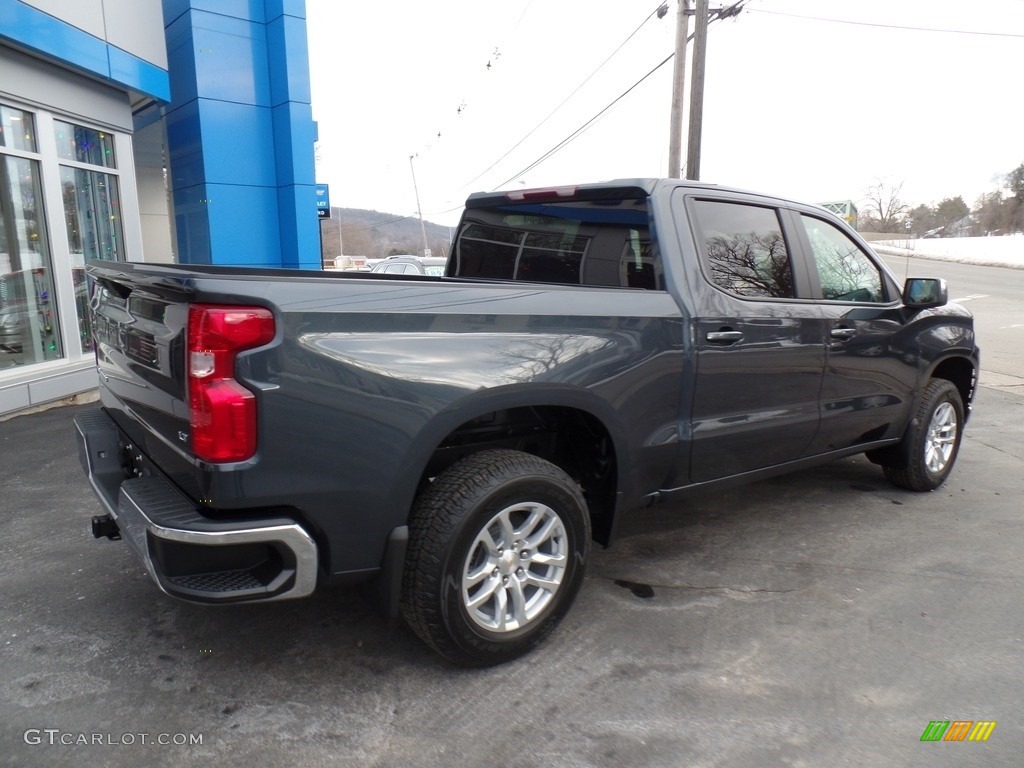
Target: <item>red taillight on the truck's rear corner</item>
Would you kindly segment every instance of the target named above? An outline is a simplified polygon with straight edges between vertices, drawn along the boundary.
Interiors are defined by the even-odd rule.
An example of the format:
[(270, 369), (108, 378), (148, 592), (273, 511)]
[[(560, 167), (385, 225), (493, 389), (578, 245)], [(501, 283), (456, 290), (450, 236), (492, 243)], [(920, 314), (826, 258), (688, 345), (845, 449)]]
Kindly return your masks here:
[(200, 459), (239, 462), (256, 453), (256, 397), (234, 380), (234, 357), (273, 334), (273, 314), (263, 307), (188, 307), (188, 409)]

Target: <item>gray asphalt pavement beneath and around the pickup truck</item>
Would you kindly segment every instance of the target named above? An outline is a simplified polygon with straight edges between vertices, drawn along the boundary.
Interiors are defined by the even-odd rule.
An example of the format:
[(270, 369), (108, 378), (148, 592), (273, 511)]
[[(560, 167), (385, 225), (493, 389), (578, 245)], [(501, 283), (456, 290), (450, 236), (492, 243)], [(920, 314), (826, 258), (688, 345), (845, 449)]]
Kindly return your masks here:
[(635, 515), (548, 642), (483, 671), (351, 590), (162, 595), (89, 532), (83, 408), (0, 423), (0, 766), (1020, 765), (1013, 392), (981, 389), (938, 492), (853, 458)]

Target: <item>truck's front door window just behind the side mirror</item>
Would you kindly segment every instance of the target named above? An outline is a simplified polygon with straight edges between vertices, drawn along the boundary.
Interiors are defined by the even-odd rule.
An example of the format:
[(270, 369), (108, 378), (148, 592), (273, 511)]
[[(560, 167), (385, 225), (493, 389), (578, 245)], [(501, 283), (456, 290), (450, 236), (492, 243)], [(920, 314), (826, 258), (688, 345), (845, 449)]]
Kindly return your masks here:
[(845, 232), (823, 219), (801, 215), (821, 283), (829, 301), (884, 302), (882, 272)]

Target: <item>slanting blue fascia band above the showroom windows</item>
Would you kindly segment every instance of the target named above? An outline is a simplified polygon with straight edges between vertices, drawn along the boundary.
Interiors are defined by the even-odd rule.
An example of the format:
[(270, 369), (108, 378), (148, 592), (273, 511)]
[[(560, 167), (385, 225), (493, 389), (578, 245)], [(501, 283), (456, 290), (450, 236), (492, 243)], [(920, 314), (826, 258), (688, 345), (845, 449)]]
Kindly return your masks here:
[(0, 38), (155, 98), (170, 97), (164, 70), (18, 0), (0, 0)]

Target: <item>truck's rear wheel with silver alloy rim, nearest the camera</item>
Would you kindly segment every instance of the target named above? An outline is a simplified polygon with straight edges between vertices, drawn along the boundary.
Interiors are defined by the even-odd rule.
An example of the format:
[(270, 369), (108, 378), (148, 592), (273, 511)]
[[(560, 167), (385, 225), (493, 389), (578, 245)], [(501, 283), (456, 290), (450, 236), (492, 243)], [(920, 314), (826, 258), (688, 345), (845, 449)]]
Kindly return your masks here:
[(417, 500), (402, 614), (430, 647), (472, 667), (532, 649), (568, 611), (590, 552), (590, 518), (561, 469), (483, 451)]

